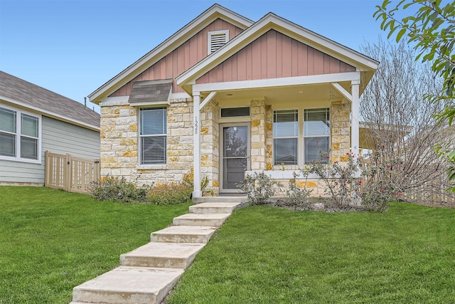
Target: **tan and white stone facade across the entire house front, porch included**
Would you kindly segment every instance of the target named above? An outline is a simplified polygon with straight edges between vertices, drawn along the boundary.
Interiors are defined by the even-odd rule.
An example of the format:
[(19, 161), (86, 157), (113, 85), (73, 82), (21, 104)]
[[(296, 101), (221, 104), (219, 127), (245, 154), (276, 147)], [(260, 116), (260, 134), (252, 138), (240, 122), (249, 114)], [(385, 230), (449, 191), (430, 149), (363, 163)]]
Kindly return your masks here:
[[(171, 100), (167, 108), (166, 164), (140, 166), (138, 160), (138, 108), (124, 102), (101, 104), (102, 176), (126, 177), (138, 184), (180, 182), (193, 169), (193, 101)], [(208, 189), (217, 195), (220, 189), (220, 107), (211, 100), (200, 113), (200, 176), (209, 179)], [(273, 111), (264, 100), (250, 101), (251, 169), (282, 170), (273, 165)], [(331, 103), (331, 161), (346, 162), (350, 152), (350, 104)], [(285, 166), (298, 170), (298, 166)], [(287, 186), (289, 179), (280, 180)], [(299, 187), (313, 189), (322, 196), (324, 186), (318, 179), (299, 179)]]

